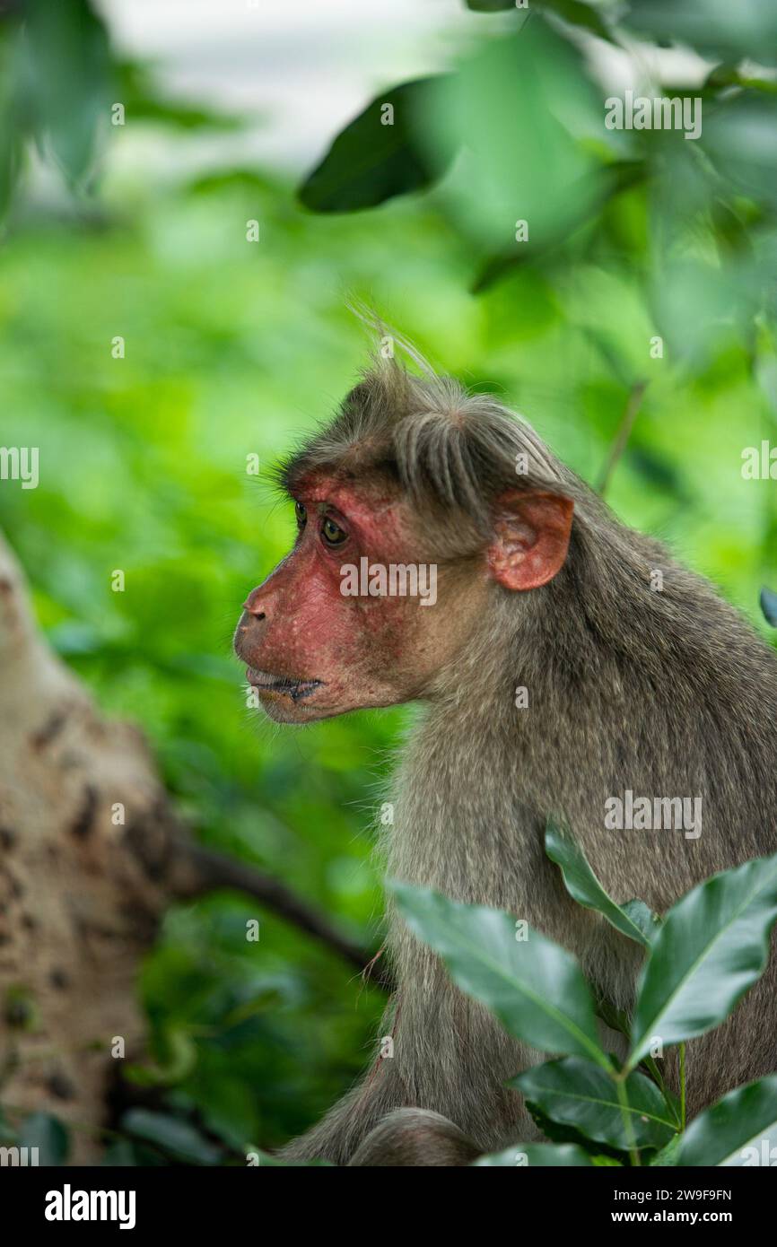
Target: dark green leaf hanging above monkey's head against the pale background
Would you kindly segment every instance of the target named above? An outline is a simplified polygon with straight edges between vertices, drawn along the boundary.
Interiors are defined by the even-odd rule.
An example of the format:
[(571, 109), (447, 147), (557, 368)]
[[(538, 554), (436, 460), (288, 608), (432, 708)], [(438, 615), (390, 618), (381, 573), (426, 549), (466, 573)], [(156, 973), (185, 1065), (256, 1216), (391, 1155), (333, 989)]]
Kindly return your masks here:
[[(340, 133), (299, 190), (314, 212), (355, 212), (430, 186), (455, 153), (449, 136), (422, 140), (423, 117), (439, 107), (448, 75), (403, 82), (377, 96)], [(393, 125), (385, 123), (387, 106)]]

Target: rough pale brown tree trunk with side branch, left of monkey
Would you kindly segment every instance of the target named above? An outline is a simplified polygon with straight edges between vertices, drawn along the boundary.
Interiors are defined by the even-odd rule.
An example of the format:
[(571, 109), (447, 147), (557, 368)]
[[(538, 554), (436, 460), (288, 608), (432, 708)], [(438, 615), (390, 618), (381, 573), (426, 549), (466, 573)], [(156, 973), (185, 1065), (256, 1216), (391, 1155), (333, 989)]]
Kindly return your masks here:
[(136, 975), (166, 905), (215, 887), (364, 965), (283, 885), (188, 840), (141, 732), (106, 720), (36, 632), (0, 536), (0, 1097), (87, 1127), (72, 1161), (99, 1148), (115, 1039), (142, 1047)]

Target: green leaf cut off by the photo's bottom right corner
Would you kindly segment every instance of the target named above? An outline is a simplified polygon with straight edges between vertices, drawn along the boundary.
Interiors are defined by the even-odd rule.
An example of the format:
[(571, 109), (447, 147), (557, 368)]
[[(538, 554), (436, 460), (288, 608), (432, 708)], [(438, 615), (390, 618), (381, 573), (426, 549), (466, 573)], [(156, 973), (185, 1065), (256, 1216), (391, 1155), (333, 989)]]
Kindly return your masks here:
[(773, 1165), (777, 1158), (777, 1074), (730, 1091), (696, 1117), (677, 1165)]

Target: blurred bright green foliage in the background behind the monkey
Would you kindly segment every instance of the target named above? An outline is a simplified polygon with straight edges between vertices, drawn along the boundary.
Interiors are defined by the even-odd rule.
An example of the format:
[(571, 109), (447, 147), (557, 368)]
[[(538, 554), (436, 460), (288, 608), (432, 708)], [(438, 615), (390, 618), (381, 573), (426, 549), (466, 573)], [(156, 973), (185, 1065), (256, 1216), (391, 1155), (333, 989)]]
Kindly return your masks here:
[[(62, 11), (81, 20), (84, 7), (67, 0)], [(551, 7), (575, 27), (604, 20), (595, 6)], [(2, 443), (40, 448), (40, 486), (4, 486), (0, 524), (41, 625), (107, 712), (142, 725), (203, 840), (277, 874), (364, 944), (382, 908), (372, 824), (408, 712), (278, 731), (246, 711), (231, 657), (239, 604), (293, 531), (288, 508), (247, 475), (247, 456), (271, 466), (364, 363), (344, 292), (373, 302), (439, 367), (520, 409), (589, 480), (646, 380), (614, 508), (672, 542), (765, 635), (758, 594), (777, 587), (777, 491), (741, 475), (745, 446), (777, 441), (777, 205), (773, 157), (760, 146), (768, 91), (736, 85), (736, 64), (722, 74), (728, 86), (716, 91), (733, 130), (712, 138), (727, 136), (742, 165), (728, 176), (712, 145), (702, 155), (682, 135), (607, 136), (602, 92), (569, 27), (538, 17), (516, 35), (506, 21), (473, 14), (471, 57), (445, 80), (448, 105), (414, 113), (414, 151), (437, 150), (437, 161), (419, 156), (407, 185), (394, 163), (393, 180), (360, 201), (380, 203), (370, 212), (312, 214), (272, 170), (153, 185), (121, 171), (111, 145), (125, 131), (94, 117), (96, 217), (82, 197), (92, 140), (81, 132), (71, 148), (56, 127), (46, 133), (56, 104), (41, 95), (44, 120), (30, 127), (79, 183), (62, 218), (17, 181), (21, 135), (9, 146), (7, 123), (22, 97), (0, 107), (12, 201), (0, 257)], [(90, 46), (97, 69), (84, 74), (95, 86), (102, 45)], [(155, 101), (130, 66), (111, 72), (135, 101), (135, 135), (175, 123), (185, 143), (215, 120)], [(464, 147), (444, 173), (451, 127)], [(430, 170), (444, 173), (439, 185), (404, 197)], [(307, 201), (332, 207), (313, 203), (309, 183)], [(543, 224), (538, 246), (520, 252), (514, 223), (528, 211)], [(247, 241), (253, 219), (258, 243)], [(662, 358), (651, 357), (656, 334)], [(123, 358), (112, 354), (117, 335)], [(122, 594), (111, 591), (115, 569)], [(252, 917), (236, 897), (170, 914), (141, 983), (153, 1064), (132, 1074), (234, 1150), (273, 1147), (319, 1116), (365, 1064), (383, 1005), (269, 915), (261, 943), (247, 944)], [(146, 1143), (165, 1134), (141, 1125)]]

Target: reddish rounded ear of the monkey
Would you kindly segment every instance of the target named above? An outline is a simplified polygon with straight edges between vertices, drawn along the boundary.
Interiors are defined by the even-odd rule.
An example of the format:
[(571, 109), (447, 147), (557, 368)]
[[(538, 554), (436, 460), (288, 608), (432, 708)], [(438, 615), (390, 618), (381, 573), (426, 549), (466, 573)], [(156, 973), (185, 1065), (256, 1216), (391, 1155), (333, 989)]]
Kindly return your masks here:
[(561, 570), (572, 530), (571, 498), (510, 490), (496, 503), (491, 576), (505, 589), (539, 589)]

